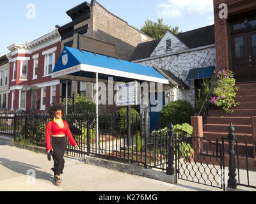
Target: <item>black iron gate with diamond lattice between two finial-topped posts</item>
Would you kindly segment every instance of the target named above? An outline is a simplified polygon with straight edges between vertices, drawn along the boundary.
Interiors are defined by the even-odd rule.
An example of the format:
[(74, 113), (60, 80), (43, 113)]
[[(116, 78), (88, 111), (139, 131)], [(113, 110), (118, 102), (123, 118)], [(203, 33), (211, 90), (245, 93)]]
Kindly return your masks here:
[(223, 142), (206, 138), (176, 134), (175, 151), (175, 182), (177, 179), (218, 187), (225, 191), (225, 165)]

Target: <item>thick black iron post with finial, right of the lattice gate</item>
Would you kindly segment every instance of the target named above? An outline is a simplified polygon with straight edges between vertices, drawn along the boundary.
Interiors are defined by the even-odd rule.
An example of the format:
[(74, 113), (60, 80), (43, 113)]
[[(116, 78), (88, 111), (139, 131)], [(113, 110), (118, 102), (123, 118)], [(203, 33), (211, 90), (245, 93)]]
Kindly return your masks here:
[(236, 189), (237, 179), (236, 179), (236, 161), (235, 161), (235, 149), (234, 143), (236, 140), (235, 128), (233, 124), (230, 124), (228, 133), (228, 143), (229, 143), (229, 163), (228, 163), (228, 187), (231, 189)]

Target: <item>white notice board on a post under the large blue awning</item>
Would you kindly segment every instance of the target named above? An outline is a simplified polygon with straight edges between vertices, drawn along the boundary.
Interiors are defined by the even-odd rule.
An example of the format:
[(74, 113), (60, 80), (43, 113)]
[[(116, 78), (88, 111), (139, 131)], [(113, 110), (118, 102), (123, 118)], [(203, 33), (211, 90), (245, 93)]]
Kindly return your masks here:
[(132, 106), (137, 105), (137, 83), (121, 84), (117, 86), (116, 105)]

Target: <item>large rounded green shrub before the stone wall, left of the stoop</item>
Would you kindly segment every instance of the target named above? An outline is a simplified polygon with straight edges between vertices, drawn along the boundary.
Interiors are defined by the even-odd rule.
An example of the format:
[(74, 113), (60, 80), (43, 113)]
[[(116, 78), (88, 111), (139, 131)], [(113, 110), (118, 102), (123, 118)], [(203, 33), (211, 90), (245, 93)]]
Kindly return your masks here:
[(173, 101), (163, 107), (160, 112), (159, 126), (165, 128), (172, 122), (173, 125), (188, 123), (191, 124), (191, 116), (195, 110), (188, 101)]

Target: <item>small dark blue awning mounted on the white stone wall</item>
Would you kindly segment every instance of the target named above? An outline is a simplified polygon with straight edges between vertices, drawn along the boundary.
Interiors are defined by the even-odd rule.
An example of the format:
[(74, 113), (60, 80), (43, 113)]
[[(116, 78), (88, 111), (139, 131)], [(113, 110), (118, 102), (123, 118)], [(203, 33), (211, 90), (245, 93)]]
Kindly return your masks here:
[(211, 78), (213, 70), (214, 70), (214, 66), (209, 66), (207, 68), (190, 69), (187, 80)]

